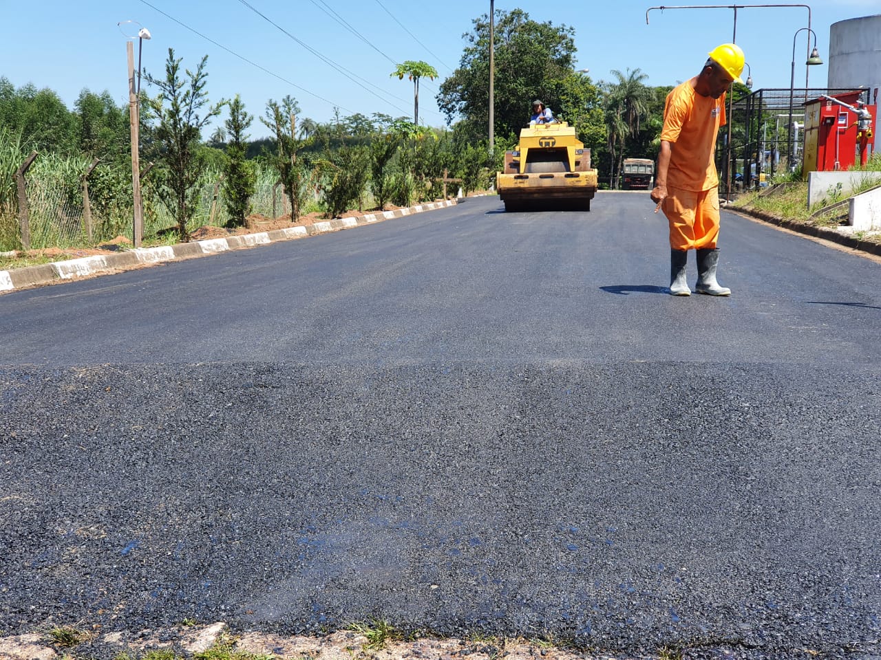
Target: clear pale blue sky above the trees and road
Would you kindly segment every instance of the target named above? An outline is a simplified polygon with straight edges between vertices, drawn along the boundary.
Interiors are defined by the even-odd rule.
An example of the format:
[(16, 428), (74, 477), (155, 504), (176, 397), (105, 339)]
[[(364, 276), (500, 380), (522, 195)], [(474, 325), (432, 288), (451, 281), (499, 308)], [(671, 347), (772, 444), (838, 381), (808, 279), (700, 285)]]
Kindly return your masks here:
[[(700, 70), (708, 50), (733, 36), (731, 9), (673, 9), (676, 5), (670, 4), (665, 11), (650, 11), (647, 25), (648, 8), (658, 5), (495, 0), (497, 10), (520, 8), (534, 20), (574, 27), (576, 68), (589, 69), (594, 81), (611, 79), (612, 69), (640, 69), (648, 84), (676, 84)], [(810, 6), (825, 62), (833, 23), (881, 11), (879, 0), (814, 0)], [(189, 68), (208, 55), (211, 100), (238, 93), (248, 112), (260, 116), (268, 99), (290, 94), (300, 103), (301, 116), (329, 121), (335, 107), (343, 116), (411, 116), (411, 82), (389, 77), (396, 62), (424, 60), (441, 79), (448, 76), (459, 64), (463, 33), (470, 33), (472, 20), (489, 11), (489, 2), (0, 0), (0, 8), (0, 76), (17, 87), (48, 87), (69, 107), (84, 88), (107, 90), (119, 104), (128, 101), (125, 43), (139, 25), (152, 33), (152, 40), (144, 41), (144, 70), (161, 76), (168, 48)], [(134, 22), (118, 26), (121, 21)], [(750, 64), (753, 89), (788, 89), (793, 40), (807, 23), (804, 7), (737, 10), (737, 43)], [(804, 84), (808, 37), (807, 31), (797, 36), (796, 87)], [(825, 64), (811, 67), (810, 75), (811, 86), (825, 86)], [(425, 80), (420, 87), (420, 123), (444, 124), (434, 102), (439, 84)], [(528, 112), (529, 99), (523, 99), (523, 107)], [(252, 137), (268, 133), (257, 121), (251, 128)]]

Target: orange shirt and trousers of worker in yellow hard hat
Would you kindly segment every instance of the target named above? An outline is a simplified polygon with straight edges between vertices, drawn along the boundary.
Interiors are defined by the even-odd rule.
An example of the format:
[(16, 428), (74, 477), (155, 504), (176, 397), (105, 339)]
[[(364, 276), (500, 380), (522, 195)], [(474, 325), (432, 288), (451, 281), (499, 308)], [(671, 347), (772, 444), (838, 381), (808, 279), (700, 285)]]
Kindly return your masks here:
[(701, 96), (690, 81), (668, 95), (661, 139), (671, 143), (667, 197), (663, 212), (670, 223), (670, 247), (714, 248), (719, 238), (719, 176), (715, 142), (724, 126), (725, 94)]

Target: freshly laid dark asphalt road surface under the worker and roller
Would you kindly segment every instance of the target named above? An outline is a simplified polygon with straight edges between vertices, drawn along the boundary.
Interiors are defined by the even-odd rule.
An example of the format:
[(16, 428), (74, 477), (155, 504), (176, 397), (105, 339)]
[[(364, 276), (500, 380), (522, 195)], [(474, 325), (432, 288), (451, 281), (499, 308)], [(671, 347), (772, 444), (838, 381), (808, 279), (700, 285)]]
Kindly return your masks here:
[(0, 630), (881, 656), (881, 265), (723, 212), (733, 295), (671, 297), (648, 194), (592, 208), (0, 297)]

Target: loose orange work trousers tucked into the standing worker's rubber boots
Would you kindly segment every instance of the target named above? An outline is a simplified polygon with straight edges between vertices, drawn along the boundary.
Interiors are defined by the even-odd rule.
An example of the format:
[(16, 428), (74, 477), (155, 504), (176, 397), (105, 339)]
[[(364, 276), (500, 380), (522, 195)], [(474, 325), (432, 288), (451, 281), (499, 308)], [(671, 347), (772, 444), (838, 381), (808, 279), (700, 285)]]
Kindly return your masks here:
[(696, 193), (667, 187), (663, 214), (670, 223), (670, 247), (674, 250), (714, 248), (719, 238), (719, 192), (715, 188)]

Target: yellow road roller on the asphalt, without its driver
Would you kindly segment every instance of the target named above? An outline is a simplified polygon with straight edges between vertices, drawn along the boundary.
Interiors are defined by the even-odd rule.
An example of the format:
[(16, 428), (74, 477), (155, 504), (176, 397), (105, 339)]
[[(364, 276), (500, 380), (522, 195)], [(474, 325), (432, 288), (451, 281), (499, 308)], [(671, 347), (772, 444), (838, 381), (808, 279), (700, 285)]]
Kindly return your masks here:
[(496, 174), (496, 190), (505, 209), (590, 210), (596, 194), (596, 170), (590, 150), (565, 121), (534, 124), (520, 131), (517, 149), (505, 152)]

